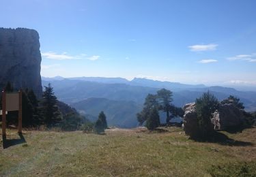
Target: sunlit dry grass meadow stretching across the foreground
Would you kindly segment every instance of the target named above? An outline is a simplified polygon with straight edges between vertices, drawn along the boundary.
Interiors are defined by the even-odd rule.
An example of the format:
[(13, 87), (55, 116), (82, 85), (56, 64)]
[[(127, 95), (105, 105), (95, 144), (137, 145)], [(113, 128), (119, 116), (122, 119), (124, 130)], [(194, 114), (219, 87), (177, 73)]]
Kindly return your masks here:
[[(0, 176), (210, 176), (210, 165), (256, 161), (256, 128), (226, 134), (253, 145), (193, 142), (173, 127), (106, 135), (25, 131), (27, 143), (0, 147)], [(9, 130), (8, 139), (15, 138)]]

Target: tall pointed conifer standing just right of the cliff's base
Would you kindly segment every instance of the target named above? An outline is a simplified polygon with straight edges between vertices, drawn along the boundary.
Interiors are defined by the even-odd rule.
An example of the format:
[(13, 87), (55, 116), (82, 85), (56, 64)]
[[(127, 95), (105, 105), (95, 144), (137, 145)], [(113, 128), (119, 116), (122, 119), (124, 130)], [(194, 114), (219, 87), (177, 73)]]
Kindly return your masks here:
[(44, 87), (45, 91), (42, 95), (40, 112), (44, 123), (47, 127), (51, 127), (61, 121), (61, 112), (57, 106), (57, 97), (54, 95), (51, 84)]

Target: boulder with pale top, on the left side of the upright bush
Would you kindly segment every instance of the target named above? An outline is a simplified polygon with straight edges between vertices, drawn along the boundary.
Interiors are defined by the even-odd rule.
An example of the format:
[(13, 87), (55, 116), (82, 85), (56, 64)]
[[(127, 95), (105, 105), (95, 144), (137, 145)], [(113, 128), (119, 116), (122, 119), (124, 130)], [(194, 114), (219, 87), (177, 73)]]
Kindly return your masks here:
[(186, 135), (190, 138), (197, 138), (198, 136), (198, 121), (197, 121), (197, 110), (195, 103), (188, 103), (184, 106), (184, 120), (183, 127)]

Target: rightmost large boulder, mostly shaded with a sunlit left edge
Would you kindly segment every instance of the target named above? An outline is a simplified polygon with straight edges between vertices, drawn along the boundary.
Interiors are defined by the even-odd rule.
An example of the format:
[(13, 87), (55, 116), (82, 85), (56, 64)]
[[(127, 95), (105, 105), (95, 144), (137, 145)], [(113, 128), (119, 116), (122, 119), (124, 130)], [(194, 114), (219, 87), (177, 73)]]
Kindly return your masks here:
[(242, 111), (232, 103), (221, 104), (213, 114), (214, 129), (229, 129), (240, 127), (244, 121)]

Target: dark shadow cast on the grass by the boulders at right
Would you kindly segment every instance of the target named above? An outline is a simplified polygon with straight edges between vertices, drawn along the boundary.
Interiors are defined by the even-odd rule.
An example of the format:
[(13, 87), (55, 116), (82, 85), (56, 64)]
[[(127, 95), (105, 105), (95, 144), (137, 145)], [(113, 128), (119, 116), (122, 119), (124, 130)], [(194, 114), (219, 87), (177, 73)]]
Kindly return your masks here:
[(243, 142), (238, 140), (233, 140), (229, 138), (227, 135), (221, 133), (221, 132), (215, 132), (214, 135), (210, 140), (196, 140), (197, 142), (212, 142), (212, 143), (218, 143), (225, 146), (253, 146), (254, 144), (252, 142)]

